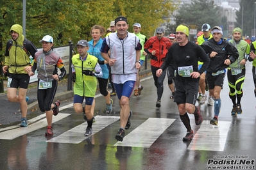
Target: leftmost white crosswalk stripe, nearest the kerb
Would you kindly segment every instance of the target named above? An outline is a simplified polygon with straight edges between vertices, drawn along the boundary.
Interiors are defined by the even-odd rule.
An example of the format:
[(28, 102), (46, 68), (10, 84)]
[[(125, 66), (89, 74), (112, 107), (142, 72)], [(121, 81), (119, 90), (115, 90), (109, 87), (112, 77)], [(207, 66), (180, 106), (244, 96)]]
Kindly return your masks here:
[[(63, 118), (65, 118), (69, 115), (70, 114), (68, 114), (68, 113), (59, 113), (58, 116), (53, 116), (53, 123), (55, 123), (56, 121), (62, 120)], [(40, 116), (42, 116), (42, 114)], [(33, 120), (33, 119), (31, 119), (31, 120)], [(39, 128), (46, 127), (46, 126), (47, 126), (46, 118), (36, 121), (35, 123), (32, 123), (31, 125), (29, 124), (28, 127), (15, 126), (16, 128), (13, 128), (12, 130), (6, 130), (4, 132), (1, 132), (0, 139), (12, 140), (12, 139), (15, 139), (16, 137), (19, 137), (24, 134), (28, 134), (30, 132), (33, 132), (35, 130), (38, 130)]]

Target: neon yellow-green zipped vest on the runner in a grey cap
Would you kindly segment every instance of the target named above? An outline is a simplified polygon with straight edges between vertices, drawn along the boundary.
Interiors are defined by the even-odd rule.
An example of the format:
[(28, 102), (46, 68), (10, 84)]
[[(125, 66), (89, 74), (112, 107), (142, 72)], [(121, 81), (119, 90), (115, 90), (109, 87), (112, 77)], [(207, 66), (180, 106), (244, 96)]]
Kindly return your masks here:
[(87, 54), (87, 58), (81, 61), (80, 54), (72, 57), (72, 64), (76, 72), (76, 82), (74, 82), (74, 95), (81, 97), (94, 97), (97, 89), (97, 78), (83, 74), (83, 70), (94, 71), (98, 63), (98, 58)]

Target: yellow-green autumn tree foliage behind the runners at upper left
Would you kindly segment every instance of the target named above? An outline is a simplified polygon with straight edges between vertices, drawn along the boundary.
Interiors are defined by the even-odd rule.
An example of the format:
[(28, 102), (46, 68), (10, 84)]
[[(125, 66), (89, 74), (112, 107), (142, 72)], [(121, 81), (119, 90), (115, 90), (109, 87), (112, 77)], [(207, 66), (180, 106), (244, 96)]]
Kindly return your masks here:
[[(67, 45), (69, 40), (75, 44), (80, 39), (90, 40), (90, 28), (95, 24), (109, 27), (110, 21), (119, 15), (128, 18), (129, 31), (132, 24), (139, 22), (142, 33), (153, 35), (156, 27), (164, 22), (162, 16), (169, 16), (175, 7), (172, 1), (78, 1), (78, 0), (30, 0), (26, 1), (26, 38), (36, 47), (44, 35), (54, 38), (55, 46)], [(0, 92), (3, 73), (4, 50), (10, 39), (10, 27), (22, 26), (22, 1), (3, 1), (0, 6)]]

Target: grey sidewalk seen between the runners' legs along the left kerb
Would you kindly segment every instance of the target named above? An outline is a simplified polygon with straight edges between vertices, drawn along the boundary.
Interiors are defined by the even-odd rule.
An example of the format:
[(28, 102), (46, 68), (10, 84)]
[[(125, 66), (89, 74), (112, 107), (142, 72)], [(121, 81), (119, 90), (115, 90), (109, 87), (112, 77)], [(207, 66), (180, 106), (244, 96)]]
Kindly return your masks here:
[[(148, 61), (147, 69), (144, 70), (144, 65), (143, 65), (143, 68), (139, 72), (139, 75), (142, 76), (148, 73), (151, 73), (150, 60)], [(6, 91), (7, 89), (6, 84), (7, 84), (7, 81), (4, 81), (4, 91)], [(26, 96), (30, 98), (30, 100), (28, 101), (28, 111), (33, 111), (35, 109), (38, 109), (37, 82), (33, 82), (29, 85)], [(55, 100), (64, 101), (64, 100), (67, 100), (68, 98), (73, 98), (73, 96), (74, 96), (73, 90), (67, 91), (67, 79), (64, 79), (58, 82), (58, 88), (56, 91), (55, 99), (53, 101)], [(2, 118), (4, 116), (8, 116), (9, 113), (16, 114), (16, 112), (19, 112), (19, 109), (20, 109), (19, 103), (11, 103), (8, 101), (6, 93), (0, 93), (0, 108), (1, 108)], [(0, 125), (3, 124), (1, 123), (2, 118), (0, 118)]]

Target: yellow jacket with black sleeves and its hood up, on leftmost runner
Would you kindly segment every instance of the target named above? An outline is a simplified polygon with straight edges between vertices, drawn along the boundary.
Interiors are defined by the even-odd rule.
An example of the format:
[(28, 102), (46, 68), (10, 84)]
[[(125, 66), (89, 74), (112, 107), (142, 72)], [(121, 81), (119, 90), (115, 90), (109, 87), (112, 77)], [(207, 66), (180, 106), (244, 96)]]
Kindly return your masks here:
[[(24, 36), (22, 35), (22, 26), (19, 24), (14, 24), (10, 33), (15, 31), (19, 34), (17, 40), (10, 39), (6, 43), (6, 51), (5, 51), (5, 59), (4, 65), (9, 67), (10, 73), (25, 73), (25, 66), (31, 65), (30, 56), (24, 50)], [(31, 54), (34, 58), (35, 52), (37, 52), (37, 48), (31, 43), (29, 40), (26, 40), (26, 50)]]

